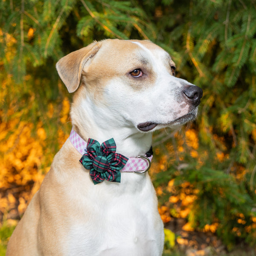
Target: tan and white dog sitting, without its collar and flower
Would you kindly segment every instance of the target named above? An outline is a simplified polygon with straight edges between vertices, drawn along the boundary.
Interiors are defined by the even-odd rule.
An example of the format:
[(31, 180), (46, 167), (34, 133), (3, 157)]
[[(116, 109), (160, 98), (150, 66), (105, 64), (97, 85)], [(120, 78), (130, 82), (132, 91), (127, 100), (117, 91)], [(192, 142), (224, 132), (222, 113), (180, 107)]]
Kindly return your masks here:
[[(176, 78), (169, 54), (149, 41), (104, 40), (61, 58), (74, 130), (113, 138), (125, 157), (145, 155), (152, 131), (195, 119), (202, 90)], [(68, 139), (10, 238), (6, 256), (160, 256), (163, 223), (148, 173), (94, 185)]]

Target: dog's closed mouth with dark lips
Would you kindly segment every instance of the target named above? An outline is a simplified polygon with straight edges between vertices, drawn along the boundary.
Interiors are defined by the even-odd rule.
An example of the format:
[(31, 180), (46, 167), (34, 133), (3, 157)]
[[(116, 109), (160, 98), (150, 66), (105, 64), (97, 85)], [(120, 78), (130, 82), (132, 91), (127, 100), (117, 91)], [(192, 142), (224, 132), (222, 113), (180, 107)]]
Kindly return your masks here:
[(137, 128), (140, 131), (151, 131), (154, 128), (156, 128), (157, 125), (161, 125), (161, 127), (164, 126), (171, 126), (171, 125), (183, 125), (186, 122), (192, 121), (196, 118), (196, 115), (193, 113), (188, 113), (184, 116), (180, 116), (179, 118), (175, 119), (172, 122), (169, 122), (167, 124), (163, 124), (163, 123), (155, 123), (155, 122), (144, 122), (144, 123), (140, 123), (137, 125)]

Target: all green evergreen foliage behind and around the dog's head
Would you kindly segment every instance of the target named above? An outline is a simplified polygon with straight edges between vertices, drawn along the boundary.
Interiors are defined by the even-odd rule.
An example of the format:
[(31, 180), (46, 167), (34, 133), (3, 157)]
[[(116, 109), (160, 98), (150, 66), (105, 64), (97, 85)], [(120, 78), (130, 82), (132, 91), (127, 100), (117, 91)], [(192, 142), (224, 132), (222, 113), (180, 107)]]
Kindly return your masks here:
[[(194, 127), (198, 157), (189, 145), (177, 151), (179, 140), (186, 141), (183, 131), (162, 134), (158, 147), (169, 156), (168, 166), (154, 182), (167, 187), (174, 178), (177, 192), (182, 183), (193, 184), (197, 199), (188, 218), (195, 227), (218, 223), (229, 247), (241, 239), (255, 244), (255, 0), (12, 0), (1, 1), (0, 10), (0, 124), (14, 118), (41, 122), (44, 147), (56, 152), (54, 134), (60, 127), (70, 130), (59, 116), (70, 96), (56, 61), (93, 40), (154, 41), (171, 54), (178, 77), (204, 90)], [(42, 164), (49, 165), (52, 155), (45, 158)], [(166, 190), (160, 201), (170, 195)]]

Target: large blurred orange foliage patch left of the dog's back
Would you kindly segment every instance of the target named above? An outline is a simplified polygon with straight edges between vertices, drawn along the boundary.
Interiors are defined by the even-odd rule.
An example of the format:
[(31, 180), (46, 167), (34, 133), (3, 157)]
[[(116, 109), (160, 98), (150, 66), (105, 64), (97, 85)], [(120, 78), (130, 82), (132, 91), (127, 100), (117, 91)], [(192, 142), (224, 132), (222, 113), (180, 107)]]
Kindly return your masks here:
[[(32, 137), (32, 124), (12, 119), (0, 124), (0, 212), (15, 215), (15, 207), (23, 214), (27, 202), (38, 190), (47, 169), (41, 169), (44, 159), (45, 131), (38, 126), (38, 140)], [(10, 135), (9, 135), (10, 134)], [(5, 141), (3, 138), (7, 137)], [(38, 172), (39, 170), (39, 172)], [(17, 198), (15, 198), (15, 196)]]

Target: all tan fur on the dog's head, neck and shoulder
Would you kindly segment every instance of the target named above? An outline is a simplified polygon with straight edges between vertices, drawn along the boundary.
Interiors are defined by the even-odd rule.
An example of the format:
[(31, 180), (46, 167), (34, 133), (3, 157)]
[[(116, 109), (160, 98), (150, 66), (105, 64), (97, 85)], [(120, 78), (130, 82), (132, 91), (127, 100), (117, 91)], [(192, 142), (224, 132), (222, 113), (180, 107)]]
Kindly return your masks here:
[[(152, 43), (145, 41), (143, 44), (150, 46)], [(100, 54), (96, 54), (101, 47)], [(111, 47), (113, 47), (113, 52), (109, 52)], [(116, 47), (125, 56), (125, 62), (121, 64), (119, 55), (115, 54)], [(115, 76), (123, 76), (124, 70), (127, 72), (128, 67), (143, 65), (143, 63), (138, 63), (139, 55), (136, 58), (131, 58), (131, 52), (135, 49), (138, 49), (136, 44), (129, 43), (127, 47), (125, 42), (119, 40), (118, 44), (115, 44), (115, 40), (106, 40), (103, 46), (102, 42), (93, 42), (87, 47), (71, 52), (58, 62), (57, 70), (68, 91), (72, 93), (77, 90), (73, 97), (71, 116), (76, 131), (84, 140), (88, 140), (88, 132), (95, 128), (94, 124), (91, 124), (86, 130), (76, 122), (78, 116), (74, 110), (79, 107), (76, 104), (79, 105), (81, 99), (86, 98), (87, 95), (93, 95), (95, 104), (104, 105), (104, 102), (101, 101), (101, 92), (104, 87), (100, 85), (106, 84)], [(106, 55), (108, 58), (105, 58)], [(90, 65), (91, 58), (94, 61)], [(99, 66), (101, 67), (100, 73), (97, 73), (95, 70), (98, 70)], [(154, 76), (151, 77), (154, 78)], [(152, 79), (146, 81), (145, 86), (153, 82)], [(134, 89), (139, 87), (136, 84), (134, 86)], [(73, 219), (87, 218), (89, 214), (88, 212), (74, 212), (79, 201), (74, 198), (68, 199), (67, 195), (71, 187), (74, 191), (79, 190), (79, 186), (76, 187), (76, 184), (81, 180), (84, 184), (84, 194), (90, 193), (90, 186), (94, 186), (90, 180), (84, 180), (84, 169), (81, 168), (78, 161), (80, 157), (81, 155), (67, 140), (55, 155), (51, 169), (44, 178), (40, 190), (32, 198), (23, 218), (12, 234), (6, 256), (62, 255), (61, 250), (65, 248), (66, 233), (58, 227), (67, 225), (68, 228)], [(63, 207), (63, 204), (66, 206)], [(90, 211), (90, 209), (88, 210)], [(68, 232), (68, 229), (66, 231)], [(42, 251), (40, 248), (44, 248), (44, 250)]]

